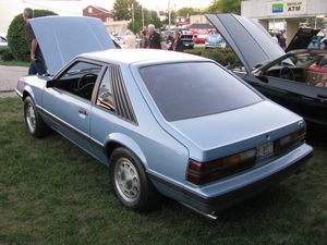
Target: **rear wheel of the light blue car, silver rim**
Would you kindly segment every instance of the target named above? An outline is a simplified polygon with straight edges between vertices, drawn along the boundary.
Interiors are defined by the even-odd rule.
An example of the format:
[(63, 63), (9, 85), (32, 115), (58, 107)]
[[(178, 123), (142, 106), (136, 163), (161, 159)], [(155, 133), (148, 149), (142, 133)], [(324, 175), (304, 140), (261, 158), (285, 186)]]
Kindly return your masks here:
[(137, 211), (152, 211), (161, 203), (161, 196), (148, 180), (136, 156), (124, 147), (110, 157), (110, 185), (117, 198)]

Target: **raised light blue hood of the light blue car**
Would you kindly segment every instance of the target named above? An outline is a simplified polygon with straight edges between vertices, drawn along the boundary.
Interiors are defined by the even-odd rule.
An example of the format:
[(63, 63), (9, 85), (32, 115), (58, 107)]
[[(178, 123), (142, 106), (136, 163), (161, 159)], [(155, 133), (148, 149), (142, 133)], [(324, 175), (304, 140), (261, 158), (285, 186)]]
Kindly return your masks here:
[(55, 75), (81, 53), (114, 48), (105, 25), (98, 19), (47, 16), (31, 20), (31, 25), (50, 75)]

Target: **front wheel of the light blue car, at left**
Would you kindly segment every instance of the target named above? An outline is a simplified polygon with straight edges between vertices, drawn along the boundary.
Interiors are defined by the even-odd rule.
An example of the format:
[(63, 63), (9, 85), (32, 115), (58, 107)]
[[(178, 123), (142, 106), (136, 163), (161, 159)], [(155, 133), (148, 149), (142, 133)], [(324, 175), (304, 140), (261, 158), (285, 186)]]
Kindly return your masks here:
[(35, 103), (31, 97), (24, 100), (24, 119), (27, 131), (34, 137), (44, 137), (50, 133), (49, 126), (36, 110)]

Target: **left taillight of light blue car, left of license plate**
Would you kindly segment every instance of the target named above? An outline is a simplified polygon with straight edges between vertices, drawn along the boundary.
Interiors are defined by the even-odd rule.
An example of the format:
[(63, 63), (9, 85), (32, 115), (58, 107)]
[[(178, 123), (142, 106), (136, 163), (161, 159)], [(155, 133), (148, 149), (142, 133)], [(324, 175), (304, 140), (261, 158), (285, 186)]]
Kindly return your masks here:
[(190, 159), (187, 181), (201, 185), (237, 173), (254, 166), (256, 150), (251, 149), (209, 162)]

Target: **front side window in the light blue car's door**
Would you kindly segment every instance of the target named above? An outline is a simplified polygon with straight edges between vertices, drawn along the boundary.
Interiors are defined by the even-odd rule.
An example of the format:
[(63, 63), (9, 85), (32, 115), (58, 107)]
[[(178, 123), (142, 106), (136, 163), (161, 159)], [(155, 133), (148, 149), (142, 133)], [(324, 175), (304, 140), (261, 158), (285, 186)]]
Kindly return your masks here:
[(56, 87), (90, 100), (101, 65), (78, 61), (58, 79)]

